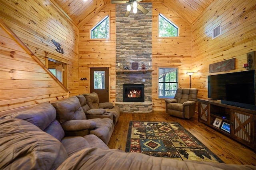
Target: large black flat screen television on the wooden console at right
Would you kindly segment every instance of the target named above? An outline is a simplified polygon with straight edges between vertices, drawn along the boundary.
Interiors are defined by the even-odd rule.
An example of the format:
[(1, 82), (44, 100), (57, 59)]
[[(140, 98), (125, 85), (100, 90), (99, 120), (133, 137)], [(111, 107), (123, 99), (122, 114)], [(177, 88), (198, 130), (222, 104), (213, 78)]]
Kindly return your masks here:
[(255, 110), (255, 70), (208, 76), (208, 98)]

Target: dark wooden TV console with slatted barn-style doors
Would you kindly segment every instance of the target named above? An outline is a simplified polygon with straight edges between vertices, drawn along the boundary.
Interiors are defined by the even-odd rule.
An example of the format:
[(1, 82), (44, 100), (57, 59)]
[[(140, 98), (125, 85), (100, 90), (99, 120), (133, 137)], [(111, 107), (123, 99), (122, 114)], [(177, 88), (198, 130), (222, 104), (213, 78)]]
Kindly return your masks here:
[[(221, 120), (220, 124), (218, 120)], [(241, 142), (256, 152), (255, 110), (221, 104), (220, 100), (198, 99), (198, 121)], [(224, 130), (223, 122), (224, 125), (230, 125), (230, 132)]]

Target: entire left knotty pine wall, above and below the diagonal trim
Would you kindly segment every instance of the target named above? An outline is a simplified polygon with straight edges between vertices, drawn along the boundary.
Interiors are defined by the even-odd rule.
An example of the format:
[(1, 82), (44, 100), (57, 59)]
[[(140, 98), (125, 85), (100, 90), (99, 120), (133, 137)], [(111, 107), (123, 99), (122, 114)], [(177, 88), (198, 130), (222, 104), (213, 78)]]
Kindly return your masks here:
[[(1, 0), (0, 6), (0, 18), (43, 64), (46, 64), (45, 51), (59, 60), (68, 61), (67, 88), (70, 91), (69, 94), (65, 88), (57, 86), (51, 76), (43, 73), (19, 46), (13, 43), (10, 46), (9, 40), (4, 39), (1, 49), (5, 45), (9, 49), (3, 47), (6, 54), (1, 52), (0, 56), (0, 111), (11, 112), (78, 94), (78, 28), (70, 18), (49, 0)], [(1, 35), (3, 33), (1, 30)], [(61, 44), (64, 54), (56, 52), (52, 39)], [(14, 58), (10, 57), (10, 51), (16, 53)]]

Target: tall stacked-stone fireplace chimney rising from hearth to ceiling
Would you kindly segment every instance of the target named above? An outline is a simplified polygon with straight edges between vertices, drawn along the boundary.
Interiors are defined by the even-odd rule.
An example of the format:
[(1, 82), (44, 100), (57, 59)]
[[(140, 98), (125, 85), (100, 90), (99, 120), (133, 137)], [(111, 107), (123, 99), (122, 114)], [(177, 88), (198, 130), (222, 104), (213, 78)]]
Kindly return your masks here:
[[(124, 17), (126, 6), (116, 4), (116, 106), (120, 112), (152, 112), (152, 72), (139, 71), (142, 64), (148, 70), (152, 63), (152, 3), (143, 3), (146, 15), (138, 10)], [(138, 72), (132, 63), (138, 63)], [(124, 67), (131, 72), (122, 72)], [(144, 85), (144, 101), (124, 102), (123, 84)]]

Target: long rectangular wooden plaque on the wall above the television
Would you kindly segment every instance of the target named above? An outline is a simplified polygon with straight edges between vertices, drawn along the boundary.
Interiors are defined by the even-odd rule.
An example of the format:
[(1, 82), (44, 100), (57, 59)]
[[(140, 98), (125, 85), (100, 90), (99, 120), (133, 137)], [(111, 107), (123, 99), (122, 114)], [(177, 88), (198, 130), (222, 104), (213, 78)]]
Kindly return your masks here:
[(236, 58), (224, 60), (209, 65), (209, 73), (222, 72), (227, 70), (234, 70), (236, 66)]

